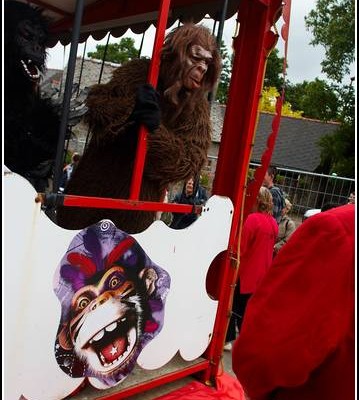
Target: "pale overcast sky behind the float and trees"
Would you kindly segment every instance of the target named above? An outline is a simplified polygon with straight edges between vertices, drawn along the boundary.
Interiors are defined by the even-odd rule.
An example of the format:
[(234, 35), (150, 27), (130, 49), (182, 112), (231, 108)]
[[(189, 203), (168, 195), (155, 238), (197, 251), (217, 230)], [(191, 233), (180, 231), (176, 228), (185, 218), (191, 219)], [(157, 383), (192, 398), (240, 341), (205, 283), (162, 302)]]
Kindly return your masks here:
[[(321, 61), (324, 58), (324, 49), (321, 46), (312, 46), (310, 41), (313, 39), (311, 32), (305, 28), (304, 16), (308, 15), (311, 9), (314, 8), (314, 0), (292, 0), (292, 8), (289, 24), (289, 39), (288, 39), (288, 67), (287, 79), (291, 83), (303, 82), (304, 80), (312, 81), (315, 78), (326, 79), (326, 76), (321, 73)], [(235, 31), (235, 17), (227, 20), (223, 32), (223, 40), (228, 48), (231, 48), (232, 37)], [(278, 21), (278, 28), (283, 23), (282, 19)], [(213, 25), (210, 25), (212, 28)], [(152, 26), (145, 34), (142, 55), (151, 56), (152, 44), (155, 36), (155, 29)], [(135, 35), (131, 31), (123, 37), (133, 37), (135, 46), (140, 47), (141, 35)], [(110, 43), (121, 40), (121, 38), (111, 37)], [(92, 38), (87, 41), (86, 53), (95, 51), (96, 44), (105, 44), (106, 39), (100, 42), (95, 42)], [(277, 44), (280, 57), (284, 55), (284, 42), (280, 38)], [(78, 55), (82, 56), (84, 45), (78, 47)], [(58, 44), (53, 49), (48, 51), (48, 68), (63, 69), (67, 64), (67, 59), (70, 51), (70, 46), (66, 46), (65, 56), (64, 47)], [(353, 68), (354, 75), (354, 68)]]

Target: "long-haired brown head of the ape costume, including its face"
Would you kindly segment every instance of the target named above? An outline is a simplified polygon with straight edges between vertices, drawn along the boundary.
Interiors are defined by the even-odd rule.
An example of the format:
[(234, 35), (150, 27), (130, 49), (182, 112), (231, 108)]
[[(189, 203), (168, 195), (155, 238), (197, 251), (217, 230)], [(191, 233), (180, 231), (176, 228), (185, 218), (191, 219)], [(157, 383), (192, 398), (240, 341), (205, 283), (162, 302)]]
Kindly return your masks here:
[(165, 97), (179, 104), (180, 93), (203, 95), (217, 83), (221, 56), (211, 31), (186, 23), (167, 34), (161, 53), (160, 79)]

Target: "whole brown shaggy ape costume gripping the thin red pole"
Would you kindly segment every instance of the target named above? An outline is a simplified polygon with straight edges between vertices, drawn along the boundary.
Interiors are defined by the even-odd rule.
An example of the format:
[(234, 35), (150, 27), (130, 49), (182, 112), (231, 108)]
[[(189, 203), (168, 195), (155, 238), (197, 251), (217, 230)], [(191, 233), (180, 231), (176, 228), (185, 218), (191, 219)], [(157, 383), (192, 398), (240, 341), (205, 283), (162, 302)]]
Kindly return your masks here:
[[(148, 68), (149, 60), (130, 61), (119, 67), (108, 83), (90, 91), (87, 122), (92, 137), (66, 193), (128, 198), (140, 123), (150, 131), (141, 200), (161, 201), (168, 184), (200, 172), (211, 141), (207, 94), (220, 73), (215, 39), (207, 28), (194, 24), (170, 32), (152, 98), (146, 90), (149, 85), (145, 85)], [(147, 95), (143, 96), (143, 91)], [(156, 104), (161, 113), (158, 124), (151, 121), (159, 111)], [(67, 229), (84, 228), (107, 218), (128, 233), (146, 229), (154, 216), (144, 211), (63, 206), (57, 210), (58, 224)]]

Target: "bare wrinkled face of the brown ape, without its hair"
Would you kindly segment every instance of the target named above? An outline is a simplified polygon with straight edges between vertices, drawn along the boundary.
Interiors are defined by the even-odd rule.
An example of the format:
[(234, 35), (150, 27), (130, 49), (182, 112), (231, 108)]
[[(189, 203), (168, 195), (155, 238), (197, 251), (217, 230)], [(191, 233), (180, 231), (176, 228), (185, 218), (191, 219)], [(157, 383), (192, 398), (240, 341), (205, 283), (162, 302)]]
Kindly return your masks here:
[(200, 45), (191, 46), (186, 60), (187, 70), (183, 74), (183, 86), (188, 90), (199, 89), (212, 60), (212, 53), (209, 50)]

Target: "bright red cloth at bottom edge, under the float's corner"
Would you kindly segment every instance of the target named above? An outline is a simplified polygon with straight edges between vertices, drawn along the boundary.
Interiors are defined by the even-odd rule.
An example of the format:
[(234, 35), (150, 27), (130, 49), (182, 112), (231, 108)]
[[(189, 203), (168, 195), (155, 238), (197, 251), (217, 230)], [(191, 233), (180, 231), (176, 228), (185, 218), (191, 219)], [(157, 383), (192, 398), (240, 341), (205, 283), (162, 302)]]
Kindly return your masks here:
[(245, 400), (241, 384), (226, 373), (216, 378), (216, 386), (213, 388), (194, 381), (156, 400)]

